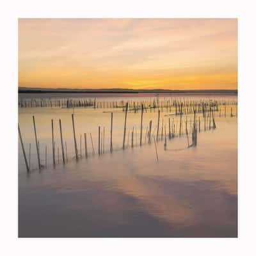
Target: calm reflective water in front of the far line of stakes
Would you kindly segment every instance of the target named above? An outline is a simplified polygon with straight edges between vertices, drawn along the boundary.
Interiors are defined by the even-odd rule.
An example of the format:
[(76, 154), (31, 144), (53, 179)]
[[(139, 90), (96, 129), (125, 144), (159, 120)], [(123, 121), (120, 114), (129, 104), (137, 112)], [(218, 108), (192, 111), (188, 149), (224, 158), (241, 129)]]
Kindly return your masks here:
[[(119, 109), (120, 110), (120, 109)], [(95, 155), (88, 137), (89, 157), (74, 159), (71, 114), (74, 111), (77, 144), (80, 134), (92, 132)], [(113, 113), (113, 148), (109, 153), (110, 113)], [(237, 236), (237, 117), (215, 114), (217, 128), (198, 133), (197, 147), (188, 147), (186, 136), (140, 148), (140, 111), (128, 113), (127, 136), (137, 131), (131, 148), (122, 150), (124, 113), (118, 109), (19, 109), (19, 124), (31, 169), (26, 173), (19, 143), (19, 236), (20, 237), (236, 237)], [(234, 111), (234, 109), (233, 109)], [(143, 143), (149, 120), (152, 133), (157, 110), (144, 113)], [(168, 126), (169, 113), (161, 113)], [(228, 115), (229, 114), (229, 115)], [(41, 162), (36, 169), (32, 115), (40, 141)], [(175, 118), (175, 116), (171, 116)], [(54, 119), (59, 160), (52, 166), (51, 119)], [(68, 163), (61, 161), (61, 118), (67, 141)], [(188, 123), (191, 116), (187, 116)], [(200, 117), (201, 118), (201, 117)], [(178, 122), (175, 118), (174, 123)], [(202, 119), (203, 120), (203, 119)], [(160, 122), (160, 124), (161, 124)], [(179, 124), (179, 123), (178, 123)], [(105, 154), (97, 155), (98, 126), (105, 127)], [(184, 131), (184, 127), (183, 127)], [(155, 133), (156, 134), (156, 131)], [(82, 137), (83, 138), (83, 137)], [(189, 134), (191, 140), (191, 134)], [(127, 145), (127, 141), (125, 141)]]

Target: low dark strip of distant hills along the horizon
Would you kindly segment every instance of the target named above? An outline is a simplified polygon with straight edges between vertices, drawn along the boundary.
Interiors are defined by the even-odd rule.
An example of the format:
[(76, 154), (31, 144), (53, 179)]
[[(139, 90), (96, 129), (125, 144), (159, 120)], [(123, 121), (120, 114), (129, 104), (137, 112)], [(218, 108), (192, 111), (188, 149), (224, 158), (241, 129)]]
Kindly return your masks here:
[(19, 93), (228, 93), (237, 94), (237, 90), (166, 90), (166, 89), (70, 89), (70, 88), (29, 88), (19, 87)]

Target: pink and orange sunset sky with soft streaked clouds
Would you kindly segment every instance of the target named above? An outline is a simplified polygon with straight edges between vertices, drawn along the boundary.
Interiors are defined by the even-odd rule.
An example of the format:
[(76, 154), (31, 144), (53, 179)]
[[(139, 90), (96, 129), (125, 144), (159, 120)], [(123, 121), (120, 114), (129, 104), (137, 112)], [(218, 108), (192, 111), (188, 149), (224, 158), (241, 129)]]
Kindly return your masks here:
[(19, 19), (19, 86), (237, 89), (237, 19)]

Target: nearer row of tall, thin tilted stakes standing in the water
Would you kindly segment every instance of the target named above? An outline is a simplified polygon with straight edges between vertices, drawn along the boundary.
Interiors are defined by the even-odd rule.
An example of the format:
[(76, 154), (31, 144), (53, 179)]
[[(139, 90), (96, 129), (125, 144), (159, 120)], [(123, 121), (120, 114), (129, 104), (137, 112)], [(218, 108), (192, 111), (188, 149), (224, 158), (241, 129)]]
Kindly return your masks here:
[[(175, 115), (179, 115), (180, 116), (180, 124), (179, 124), (179, 136), (182, 136), (182, 115), (188, 114), (190, 113), (189, 111), (184, 111), (184, 109), (182, 109), (182, 104), (180, 105), (181, 109), (180, 112), (176, 113)], [(183, 111), (184, 112), (183, 112)], [(216, 106), (209, 106), (209, 108), (207, 108), (206, 104), (203, 105), (202, 109), (193, 109), (194, 111), (194, 120), (193, 120), (193, 124), (191, 125), (191, 121), (190, 121), (190, 131), (188, 132), (188, 120), (186, 117), (186, 128), (185, 128), (185, 134), (188, 140), (188, 147), (196, 147), (197, 145), (197, 134), (198, 131), (200, 132), (200, 117), (198, 118), (198, 120), (196, 120), (196, 113), (198, 111), (198, 113), (203, 113), (203, 117), (204, 117), (204, 131), (207, 130), (208, 128), (208, 118), (209, 118), (209, 129), (216, 129), (216, 123), (214, 120), (214, 111), (218, 111), (218, 108), (216, 109)], [(126, 140), (126, 134), (127, 134), (127, 128), (126, 128), (126, 122), (127, 122), (127, 111), (128, 111), (128, 102), (126, 102), (126, 106), (125, 106), (125, 119), (124, 119), (124, 136), (123, 136), (123, 145), (122, 145), (122, 149), (125, 149), (125, 140)], [(221, 112), (221, 109), (219, 109), (219, 111)], [(144, 112), (144, 107), (143, 104), (141, 106), (141, 124), (140, 124), (140, 147), (143, 145), (142, 142), (142, 134), (143, 134), (143, 112)], [(209, 113), (208, 116), (206, 116), (206, 113)], [(225, 108), (225, 116), (226, 116), (226, 108)], [(232, 114), (232, 108), (231, 108), (231, 113), (230, 116), (234, 116)], [(159, 122), (160, 122), (160, 110), (158, 109), (158, 118), (157, 118), (157, 134), (156, 137), (153, 133), (152, 134), (152, 120), (150, 120), (149, 125), (147, 127), (147, 131), (145, 133), (145, 143), (148, 142), (148, 144), (151, 143), (152, 141), (152, 137), (154, 138), (154, 145), (155, 145), (155, 149), (156, 149), (156, 159), (158, 161), (158, 153), (157, 153), (157, 141), (159, 140), (163, 140), (163, 122), (162, 122), (162, 129), (161, 129), (161, 138), (159, 136)], [(169, 118), (169, 131), (168, 134), (166, 136), (166, 125), (164, 125), (164, 150), (166, 150), (166, 146), (167, 146), (167, 138), (170, 140), (172, 138), (175, 137), (175, 124), (174, 122), (172, 122), (171, 125), (171, 121)], [(53, 124), (53, 120), (51, 120), (51, 126), (52, 126), (52, 163), (55, 166), (56, 165), (56, 148), (55, 148), (55, 141), (54, 141), (54, 124)], [(62, 161), (63, 164), (65, 164), (65, 162), (68, 161), (68, 157), (67, 157), (67, 143), (65, 142), (65, 150), (64, 150), (64, 143), (63, 143), (63, 136), (62, 136), (62, 127), (61, 127), (61, 120), (59, 120), (59, 126), (60, 126), (60, 141), (61, 141), (61, 155), (62, 155)], [(44, 168), (44, 166), (41, 164), (41, 159), (40, 159), (40, 148), (39, 148), (39, 141), (37, 138), (37, 134), (36, 134), (36, 124), (35, 124), (35, 116), (33, 116), (33, 127), (34, 127), (34, 132), (35, 132), (35, 143), (36, 143), (36, 156), (37, 156), (37, 161), (38, 161), (38, 169), (41, 170), (42, 168)], [(76, 140), (76, 128), (75, 128), (75, 123), (74, 123), (74, 114), (72, 113), (72, 127), (73, 127), (73, 134), (74, 134), (74, 151), (75, 151), (75, 155), (76, 155), (76, 160), (79, 159), (79, 153), (78, 153), (78, 148), (77, 148), (77, 140)], [(26, 152), (24, 149), (24, 143), (22, 140), (22, 135), (20, 132), (20, 127), (18, 124), (18, 129), (19, 129), (19, 138), (20, 138), (20, 144), (22, 146), (22, 153), (24, 156), (24, 161), (26, 164), (26, 170), (27, 172), (30, 172), (30, 155), (31, 155), (31, 145), (29, 144), (29, 162), (28, 159), (26, 157)], [(189, 133), (191, 133), (192, 135), (192, 142), (189, 143)], [(93, 139), (92, 139), (92, 134), (90, 134), (90, 138), (91, 138), (91, 142), (92, 142), (92, 154), (95, 154), (95, 150), (93, 147)], [(104, 153), (104, 142), (105, 142), (105, 127), (103, 129), (103, 132), (100, 131), (100, 126), (99, 126), (99, 130), (98, 130), (98, 154), (102, 154), (102, 151)], [(128, 147), (128, 143), (129, 143), (129, 133), (128, 133), (128, 141), (127, 141), (127, 147)], [(134, 147), (134, 127), (132, 128), (132, 132), (131, 132), (131, 147)], [(103, 148), (103, 150), (102, 150)], [(110, 148), (109, 148), (110, 152), (113, 152), (113, 112), (111, 112), (111, 129), (110, 129)], [(84, 154), (85, 157), (88, 158), (88, 149), (87, 149), (87, 138), (86, 138), (86, 133), (84, 133)], [(65, 156), (66, 155), (66, 156)], [(80, 136), (80, 157), (82, 157), (82, 152), (81, 152), (81, 136)], [(58, 159), (59, 159), (59, 148), (58, 148)], [(59, 161), (58, 161), (59, 162)], [(45, 147), (45, 168), (47, 166), (47, 146)]]

